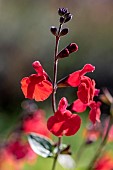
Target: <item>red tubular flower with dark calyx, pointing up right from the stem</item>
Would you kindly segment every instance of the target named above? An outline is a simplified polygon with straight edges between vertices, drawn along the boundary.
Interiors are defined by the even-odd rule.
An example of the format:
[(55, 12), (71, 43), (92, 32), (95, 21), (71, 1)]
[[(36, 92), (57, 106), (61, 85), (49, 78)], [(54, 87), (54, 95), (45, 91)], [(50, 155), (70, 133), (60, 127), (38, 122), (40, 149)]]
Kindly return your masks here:
[(72, 86), (77, 87), (81, 83), (81, 78), (88, 72), (93, 72), (95, 67), (91, 64), (86, 64), (83, 69), (69, 74), (67, 77), (63, 78), (58, 82), (58, 87)]

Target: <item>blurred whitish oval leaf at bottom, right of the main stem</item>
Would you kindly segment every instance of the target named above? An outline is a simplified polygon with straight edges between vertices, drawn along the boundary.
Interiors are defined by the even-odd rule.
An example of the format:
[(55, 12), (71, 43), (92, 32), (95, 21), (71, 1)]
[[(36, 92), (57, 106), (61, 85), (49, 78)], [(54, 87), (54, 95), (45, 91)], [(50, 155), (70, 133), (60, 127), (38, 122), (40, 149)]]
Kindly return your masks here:
[(74, 169), (76, 167), (76, 163), (70, 155), (60, 154), (58, 156), (58, 162), (66, 169)]

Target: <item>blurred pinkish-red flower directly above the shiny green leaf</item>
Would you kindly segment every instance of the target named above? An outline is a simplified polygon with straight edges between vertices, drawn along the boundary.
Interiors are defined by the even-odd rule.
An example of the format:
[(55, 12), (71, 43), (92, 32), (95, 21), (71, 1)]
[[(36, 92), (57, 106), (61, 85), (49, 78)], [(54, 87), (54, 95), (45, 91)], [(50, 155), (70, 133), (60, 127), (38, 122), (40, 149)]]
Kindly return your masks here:
[(23, 131), (25, 133), (38, 133), (50, 137), (50, 132), (47, 129), (45, 113), (42, 110), (37, 110), (32, 116), (27, 117), (23, 121)]

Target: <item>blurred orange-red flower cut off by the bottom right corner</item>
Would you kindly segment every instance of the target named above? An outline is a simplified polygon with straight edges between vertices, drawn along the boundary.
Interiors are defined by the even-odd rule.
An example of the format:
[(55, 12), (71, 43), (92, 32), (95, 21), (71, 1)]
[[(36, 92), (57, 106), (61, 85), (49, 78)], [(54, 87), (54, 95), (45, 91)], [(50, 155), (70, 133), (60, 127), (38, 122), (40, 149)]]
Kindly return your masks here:
[(104, 154), (95, 164), (94, 170), (112, 170), (113, 157), (110, 154)]

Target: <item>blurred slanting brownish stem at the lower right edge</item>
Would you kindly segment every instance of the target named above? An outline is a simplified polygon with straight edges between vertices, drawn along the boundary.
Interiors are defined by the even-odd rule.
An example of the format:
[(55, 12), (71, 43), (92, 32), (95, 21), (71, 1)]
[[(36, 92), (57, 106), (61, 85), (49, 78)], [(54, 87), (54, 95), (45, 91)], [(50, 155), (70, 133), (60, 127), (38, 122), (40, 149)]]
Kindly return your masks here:
[(101, 154), (101, 152), (102, 152), (104, 146), (105, 146), (106, 143), (107, 143), (109, 131), (110, 131), (110, 128), (111, 128), (112, 124), (113, 124), (113, 116), (110, 115), (110, 120), (109, 120), (109, 124), (108, 124), (108, 128), (107, 128), (105, 137), (104, 137), (104, 139), (102, 140), (102, 142), (101, 142), (101, 144), (100, 144), (100, 146), (99, 146), (99, 148), (98, 148), (96, 154), (94, 155), (94, 157), (93, 157), (91, 163), (89, 164), (87, 170), (92, 170), (93, 167), (94, 167), (95, 162), (96, 162), (97, 159), (99, 158), (99, 156), (100, 156), (100, 154)]

